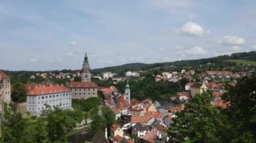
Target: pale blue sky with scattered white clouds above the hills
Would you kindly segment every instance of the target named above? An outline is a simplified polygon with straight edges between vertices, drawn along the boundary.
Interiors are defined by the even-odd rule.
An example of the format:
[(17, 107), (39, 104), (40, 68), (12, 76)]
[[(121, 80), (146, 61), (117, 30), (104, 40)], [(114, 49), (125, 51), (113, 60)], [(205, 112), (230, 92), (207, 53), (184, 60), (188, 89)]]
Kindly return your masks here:
[(0, 0), (0, 69), (91, 68), (256, 50), (255, 0)]

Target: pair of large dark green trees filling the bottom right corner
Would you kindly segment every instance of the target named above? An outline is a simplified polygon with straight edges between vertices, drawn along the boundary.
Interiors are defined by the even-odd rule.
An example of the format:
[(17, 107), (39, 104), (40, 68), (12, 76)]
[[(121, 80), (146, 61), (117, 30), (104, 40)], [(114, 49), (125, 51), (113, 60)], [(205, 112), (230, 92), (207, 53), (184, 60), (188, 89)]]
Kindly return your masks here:
[(212, 92), (195, 95), (172, 118), (170, 142), (256, 142), (256, 74), (226, 84), (226, 109), (214, 107)]

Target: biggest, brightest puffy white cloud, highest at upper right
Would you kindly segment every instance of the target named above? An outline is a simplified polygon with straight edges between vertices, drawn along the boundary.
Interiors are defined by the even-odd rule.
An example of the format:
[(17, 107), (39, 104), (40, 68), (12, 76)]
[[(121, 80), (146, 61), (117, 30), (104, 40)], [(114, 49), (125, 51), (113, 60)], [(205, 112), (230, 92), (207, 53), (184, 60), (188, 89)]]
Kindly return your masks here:
[(204, 34), (210, 33), (210, 31), (205, 32), (205, 30), (203, 30), (199, 24), (191, 21), (186, 23), (179, 31), (181, 31), (183, 34), (196, 37), (201, 37)]

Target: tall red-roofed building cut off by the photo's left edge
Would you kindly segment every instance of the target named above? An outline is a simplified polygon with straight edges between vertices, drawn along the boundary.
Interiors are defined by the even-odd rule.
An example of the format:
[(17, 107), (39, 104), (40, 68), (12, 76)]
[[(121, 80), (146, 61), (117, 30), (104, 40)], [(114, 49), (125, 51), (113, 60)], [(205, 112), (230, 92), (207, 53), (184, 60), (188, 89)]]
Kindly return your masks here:
[(11, 102), (11, 80), (0, 70), (0, 96), (1, 101), (5, 103)]

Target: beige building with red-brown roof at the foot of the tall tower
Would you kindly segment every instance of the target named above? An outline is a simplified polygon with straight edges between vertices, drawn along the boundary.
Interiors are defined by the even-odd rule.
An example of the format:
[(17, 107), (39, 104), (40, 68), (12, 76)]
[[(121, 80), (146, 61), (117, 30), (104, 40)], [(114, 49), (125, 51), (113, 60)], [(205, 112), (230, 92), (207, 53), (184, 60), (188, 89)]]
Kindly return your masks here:
[(71, 89), (72, 99), (87, 99), (98, 96), (98, 85), (94, 82), (75, 82), (67, 85)]

